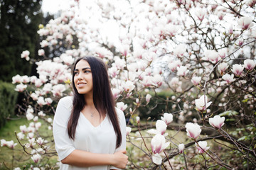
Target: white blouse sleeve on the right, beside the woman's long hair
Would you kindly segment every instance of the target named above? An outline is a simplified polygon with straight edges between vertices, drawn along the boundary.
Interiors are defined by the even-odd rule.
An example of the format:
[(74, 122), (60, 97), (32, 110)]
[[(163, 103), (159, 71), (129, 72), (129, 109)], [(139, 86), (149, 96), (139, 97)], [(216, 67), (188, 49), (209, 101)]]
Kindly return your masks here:
[[(116, 108), (116, 112), (117, 112), (117, 116), (119, 118), (119, 126), (120, 126), (120, 130), (121, 130), (121, 134), (122, 134), (122, 143), (121, 143), (120, 147), (117, 147), (117, 149), (115, 149), (114, 152), (126, 149), (126, 121), (125, 121), (124, 113), (123, 113), (123, 111), (119, 110), (118, 108)], [(116, 168), (114, 166), (110, 166), (110, 169), (118, 169), (118, 168)]]

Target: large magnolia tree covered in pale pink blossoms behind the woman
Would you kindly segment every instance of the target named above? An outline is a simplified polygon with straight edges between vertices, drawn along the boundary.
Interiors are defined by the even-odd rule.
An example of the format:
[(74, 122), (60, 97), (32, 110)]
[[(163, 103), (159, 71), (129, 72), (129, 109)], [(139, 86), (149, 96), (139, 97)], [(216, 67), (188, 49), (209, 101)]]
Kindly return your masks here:
[[(19, 111), (29, 126), (16, 137), (31, 169), (58, 167), (44, 161), (56, 152), (52, 135), (40, 128), (52, 129), (56, 103), (73, 95), (71, 67), (86, 55), (105, 61), (117, 108), (126, 115), (127, 169), (255, 169), (255, 4), (70, 2), (40, 26), (40, 60), (21, 54), (36, 63), (38, 76), (13, 77), (15, 90), (26, 96)], [(151, 120), (160, 103), (166, 106), (159, 120)], [(149, 108), (149, 118), (139, 108)], [(1, 146), (16, 145), (1, 140)]]

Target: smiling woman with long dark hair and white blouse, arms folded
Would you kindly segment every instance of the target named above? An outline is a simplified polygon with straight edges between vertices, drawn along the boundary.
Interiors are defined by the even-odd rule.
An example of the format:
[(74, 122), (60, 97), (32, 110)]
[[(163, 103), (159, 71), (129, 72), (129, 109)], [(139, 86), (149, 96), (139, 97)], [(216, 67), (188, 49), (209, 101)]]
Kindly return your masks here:
[(124, 169), (125, 118), (114, 108), (104, 62), (98, 57), (78, 59), (72, 83), (74, 96), (60, 99), (53, 120), (60, 169)]

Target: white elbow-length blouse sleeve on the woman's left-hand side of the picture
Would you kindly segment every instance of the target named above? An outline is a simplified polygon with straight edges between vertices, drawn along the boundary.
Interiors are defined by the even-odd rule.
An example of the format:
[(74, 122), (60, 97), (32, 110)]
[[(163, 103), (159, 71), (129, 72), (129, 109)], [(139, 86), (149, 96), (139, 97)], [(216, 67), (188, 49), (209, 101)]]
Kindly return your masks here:
[(73, 141), (68, 137), (67, 130), (71, 111), (70, 106), (72, 106), (70, 97), (61, 98), (53, 119), (53, 137), (60, 161), (75, 150)]

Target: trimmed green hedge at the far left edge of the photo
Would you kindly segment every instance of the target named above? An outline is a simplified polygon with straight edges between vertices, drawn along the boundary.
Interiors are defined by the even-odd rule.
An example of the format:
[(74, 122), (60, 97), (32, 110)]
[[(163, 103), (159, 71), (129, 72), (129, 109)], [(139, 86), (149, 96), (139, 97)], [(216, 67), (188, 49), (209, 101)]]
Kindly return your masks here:
[(0, 81), (0, 128), (6, 123), (6, 118), (14, 116), (18, 96), (14, 88), (13, 84)]

